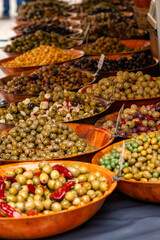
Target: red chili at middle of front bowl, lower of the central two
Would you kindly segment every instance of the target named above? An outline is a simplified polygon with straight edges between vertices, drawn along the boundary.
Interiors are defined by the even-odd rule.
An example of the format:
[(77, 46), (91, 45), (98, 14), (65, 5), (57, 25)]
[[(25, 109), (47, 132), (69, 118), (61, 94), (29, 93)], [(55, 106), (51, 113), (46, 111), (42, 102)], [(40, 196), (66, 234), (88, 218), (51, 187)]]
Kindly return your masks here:
[(64, 184), (62, 187), (57, 188), (51, 195), (50, 199), (55, 199), (57, 201), (61, 201), (66, 193), (70, 190), (72, 186), (74, 186), (75, 181), (69, 181)]

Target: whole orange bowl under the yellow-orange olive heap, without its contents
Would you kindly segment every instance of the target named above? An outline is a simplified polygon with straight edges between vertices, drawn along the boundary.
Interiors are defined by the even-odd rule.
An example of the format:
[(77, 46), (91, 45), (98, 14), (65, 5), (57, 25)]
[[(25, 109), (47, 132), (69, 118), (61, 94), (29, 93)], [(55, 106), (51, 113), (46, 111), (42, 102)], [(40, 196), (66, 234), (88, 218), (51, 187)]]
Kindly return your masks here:
[[(68, 60), (68, 61), (56, 63), (56, 65), (57, 64), (62, 64), (62, 63), (65, 63), (65, 62), (73, 61), (75, 59), (83, 57), (83, 55), (84, 55), (84, 52), (80, 51), (80, 50), (70, 49), (70, 50), (65, 50), (65, 51), (75, 54), (76, 57), (74, 59), (71, 59), (71, 60)], [(19, 73), (19, 72), (25, 72), (25, 71), (34, 71), (34, 70), (44, 66), (44, 65), (30, 66), (30, 67), (3, 67), (2, 66), (2, 63), (6, 63), (8, 61), (12, 61), (15, 58), (16, 58), (16, 56), (12, 56), (12, 57), (8, 57), (8, 58), (4, 58), (4, 59), (0, 60), (0, 69), (6, 75), (11, 75), (11, 74), (15, 74), (15, 73)]]

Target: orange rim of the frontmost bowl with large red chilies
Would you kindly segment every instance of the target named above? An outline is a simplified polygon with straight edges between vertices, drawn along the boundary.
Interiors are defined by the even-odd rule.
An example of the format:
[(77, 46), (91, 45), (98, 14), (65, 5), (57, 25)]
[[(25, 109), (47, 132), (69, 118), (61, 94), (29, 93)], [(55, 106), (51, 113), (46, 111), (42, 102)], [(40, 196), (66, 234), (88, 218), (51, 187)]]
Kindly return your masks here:
[[(54, 160), (52, 160), (52, 161), (49, 161), (50, 163), (55, 163), (55, 164), (57, 164), (58, 162), (56, 162), (56, 161), (54, 161)], [(60, 163), (64, 163), (64, 164), (67, 164), (67, 162), (70, 162), (70, 164), (72, 165), (74, 165), (74, 164), (82, 164), (82, 165), (92, 165), (95, 169), (97, 168), (97, 165), (96, 164), (91, 164), (91, 163), (84, 163), (84, 162), (79, 162), (79, 161), (60, 161)], [(4, 165), (5, 167), (6, 166), (8, 166), (9, 168), (11, 168), (11, 167), (16, 167), (16, 166), (19, 166), (20, 164), (23, 164), (23, 163), (13, 163), (13, 164), (7, 164), (7, 165)], [(29, 165), (29, 164), (38, 164), (38, 162), (36, 162), (36, 163), (33, 163), (33, 162), (25, 162), (24, 164), (27, 164), (27, 165)], [(3, 168), (3, 166), (0, 166), (0, 168)], [(110, 172), (108, 169), (103, 169), (101, 166), (99, 166), (98, 168), (100, 168), (100, 172), (106, 172), (106, 174), (109, 176), (109, 177), (113, 177), (114, 176), (114, 174), (112, 173), (112, 172)], [(98, 169), (97, 169), (98, 170)], [(61, 211), (58, 211), (58, 212), (54, 212), (54, 213), (49, 213), (49, 214), (39, 214), (39, 215), (35, 215), (35, 216), (24, 216), (24, 217), (19, 217), (19, 218), (14, 218), (14, 217), (0, 217), (0, 221), (7, 221), (7, 220), (12, 220), (12, 221), (14, 221), (14, 220), (25, 220), (25, 219), (32, 219), (32, 218), (40, 218), (40, 217), (42, 217), (42, 218), (44, 218), (44, 217), (47, 217), (47, 216), (52, 216), (52, 215), (58, 215), (58, 214), (60, 214), (60, 213), (67, 213), (67, 212), (72, 212), (72, 211), (75, 211), (75, 210), (78, 210), (78, 209), (83, 209), (83, 208), (85, 208), (86, 206), (89, 206), (89, 205), (91, 205), (91, 204), (94, 204), (95, 202), (99, 202), (99, 201), (101, 201), (102, 199), (105, 199), (107, 196), (109, 196), (114, 190), (115, 190), (115, 188), (116, 188), (116, 186), (117, 186), (117, 180), (114, 180), (114, 182), (111, 182), (111, 184), (110, 184), (110, 187), (109, 187), (109, 189), (108, 189), (108, 191), (106, 191), (98, 200), (96, 200), (96, 201), (91, 201), (91, 202), (89, 202), (89, 203), (86, 203), (85, 205), (83, 205), (83, 206), (79, 206), (79, 207), (75, 207), (75, 208), (73, 208), (73, 209), (67, 209), (67, 210), (61, 210)]]

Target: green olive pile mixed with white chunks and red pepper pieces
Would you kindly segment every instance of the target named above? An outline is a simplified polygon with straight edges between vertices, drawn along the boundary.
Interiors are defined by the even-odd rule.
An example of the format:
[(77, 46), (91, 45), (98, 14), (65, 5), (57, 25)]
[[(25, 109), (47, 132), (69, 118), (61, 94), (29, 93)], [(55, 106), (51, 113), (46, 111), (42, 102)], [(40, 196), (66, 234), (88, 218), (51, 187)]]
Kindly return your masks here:
[(60, 86), (50, 92), (41, 92), (38, 97), (11, 103), (8, 108), (0, 108), (0, 123), (15, 124), (30, 116), (46, 116), (56, 122), (68, 122), (91, 117), (106, 109), (100, 100), (80, 92), (62, 90)]

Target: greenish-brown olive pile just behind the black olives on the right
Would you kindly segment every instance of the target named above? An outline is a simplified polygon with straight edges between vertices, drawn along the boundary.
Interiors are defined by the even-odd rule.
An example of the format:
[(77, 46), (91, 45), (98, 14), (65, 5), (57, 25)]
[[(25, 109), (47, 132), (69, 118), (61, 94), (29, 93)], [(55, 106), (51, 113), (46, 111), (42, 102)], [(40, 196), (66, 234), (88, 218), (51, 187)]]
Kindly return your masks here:
[[(84, 48), (84, 51), (86, 48)], [(89, 55), (101, 55), (109, 53), (129, 52), (133, 49), (118, 41), (117, 38), (101, 37), (87, 47)]]

